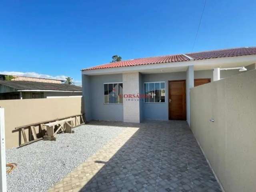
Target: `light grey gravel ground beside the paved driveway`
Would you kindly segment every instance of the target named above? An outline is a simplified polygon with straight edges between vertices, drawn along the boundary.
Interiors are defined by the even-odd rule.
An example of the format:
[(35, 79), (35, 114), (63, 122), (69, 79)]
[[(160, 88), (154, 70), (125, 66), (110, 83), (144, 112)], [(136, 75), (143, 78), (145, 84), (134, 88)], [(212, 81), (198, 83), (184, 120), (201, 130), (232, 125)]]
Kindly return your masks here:
[[(108, 123), (106, 123), (108, 124)], [(6, 150), (6, 162), (18, 166), (7, 174), (9, 192), (43, 192), (124, 130), (119, 126), (86, 124), (56, 141), (38, 141)]]

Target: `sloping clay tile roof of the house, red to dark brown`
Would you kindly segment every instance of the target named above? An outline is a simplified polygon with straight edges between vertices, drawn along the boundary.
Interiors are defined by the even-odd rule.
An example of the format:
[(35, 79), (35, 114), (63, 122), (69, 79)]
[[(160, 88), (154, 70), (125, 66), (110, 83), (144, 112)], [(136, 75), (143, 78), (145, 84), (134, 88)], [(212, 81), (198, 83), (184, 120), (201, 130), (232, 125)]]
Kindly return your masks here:
[[(234, 57), (234, 56), (243, 56), (243, 55), (252, 55), (252, 54), (256, 54), (256, 47), (213, 50), (213, 51), (205, 51), (205, 52), (188, 53), (186, 55), (193, 58), (193, 60), (202, 60), (202, 59)], [(118, 61), (118, 62), (103, 64), (99, 66), (94, 66), (91, 68), (86, 68), (84, 70), (105, 69), (105, 68), (124, 67), (124, 66), (138, 66), (138, 65), (180, 62), (180, 61), (190, 61), (190, 59), (183, 54), (166, 55), (166, 56)]]

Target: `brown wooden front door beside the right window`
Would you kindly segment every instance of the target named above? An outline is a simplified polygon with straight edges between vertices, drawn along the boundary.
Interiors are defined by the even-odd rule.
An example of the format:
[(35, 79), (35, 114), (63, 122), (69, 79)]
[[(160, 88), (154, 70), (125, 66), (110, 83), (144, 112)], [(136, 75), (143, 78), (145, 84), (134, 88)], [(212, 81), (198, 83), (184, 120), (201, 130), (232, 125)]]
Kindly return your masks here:
[(169, 81), (169, 119), (186, 120), (186, 80)]

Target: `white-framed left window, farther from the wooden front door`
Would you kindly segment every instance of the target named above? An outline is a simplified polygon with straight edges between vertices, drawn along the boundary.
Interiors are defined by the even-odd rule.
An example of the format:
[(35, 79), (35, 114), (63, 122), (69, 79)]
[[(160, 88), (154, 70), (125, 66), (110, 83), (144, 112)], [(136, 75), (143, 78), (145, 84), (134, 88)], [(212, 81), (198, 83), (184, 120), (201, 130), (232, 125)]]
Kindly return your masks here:
[(123, 103), (123, 84), (105, 83), (104, 84), (104, 104)]

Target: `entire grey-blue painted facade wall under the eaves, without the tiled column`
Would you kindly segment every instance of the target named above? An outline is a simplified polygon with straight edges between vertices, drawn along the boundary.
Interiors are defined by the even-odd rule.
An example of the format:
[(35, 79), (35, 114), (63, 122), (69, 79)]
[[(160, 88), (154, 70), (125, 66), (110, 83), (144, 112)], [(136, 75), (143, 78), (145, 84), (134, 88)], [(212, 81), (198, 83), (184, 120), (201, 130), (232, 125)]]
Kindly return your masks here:
[[(255, 65), (247, 67), (254, 69)], [(238, 70), (221, 71), (221, 78), (238, 74)], [(194, 71), (194, 78), (213, 79), (213, 70)], [(186, 80), (186, 72), (139, 74), (140, 94), (144, 94), (144, 82), (165, 82), (165, 103), (144, 103), (140, 100), (140, 120), (168, 120), (168, 81)], [(83, 96), (86, 120), (116, 120), (123, 121), (122, 104), (104, 104), (103, 84), (107, 82), (122, 82), (122, 74), (87, 76), (82, 75)]]

